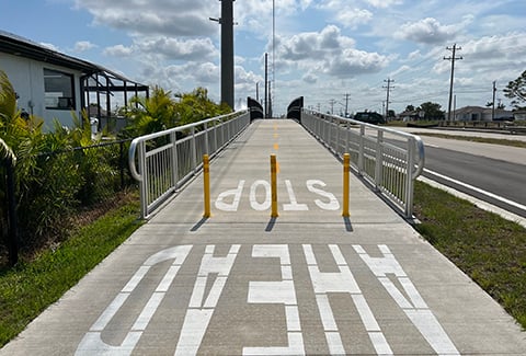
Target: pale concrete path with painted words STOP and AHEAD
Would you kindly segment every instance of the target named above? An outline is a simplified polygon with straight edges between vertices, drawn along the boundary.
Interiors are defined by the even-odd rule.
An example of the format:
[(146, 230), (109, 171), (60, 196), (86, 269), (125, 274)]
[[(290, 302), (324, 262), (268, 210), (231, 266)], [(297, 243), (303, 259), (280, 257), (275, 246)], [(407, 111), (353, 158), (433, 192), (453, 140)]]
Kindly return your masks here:
[[(270, 217), (270, 154), (279, 217)], [(256, 122), (0, 355), (525, 355), (526, 333), (290, 120)]]

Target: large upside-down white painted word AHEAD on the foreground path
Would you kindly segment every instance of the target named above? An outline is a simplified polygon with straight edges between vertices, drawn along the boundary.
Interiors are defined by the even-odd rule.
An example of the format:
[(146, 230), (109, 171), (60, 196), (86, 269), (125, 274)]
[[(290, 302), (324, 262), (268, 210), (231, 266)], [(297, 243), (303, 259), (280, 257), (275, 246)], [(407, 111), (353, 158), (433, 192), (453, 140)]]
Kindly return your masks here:
[[(299, 260), (298, 256), (294, 260), (298, 264), (293, 264), (290, 249), (299, 252)], [(386, 310), (378, 310), (378, 308), (375, 310), (366, 299), (366, 295), (375, 296), (378, 292), (368, 290), (364, 294), (362, 287), (385, 290), (388, 295), (387, 298), (391, 298), (386, 306), (398, 308), (407, 315), (408, 323), (412, 323), (414, 330), (420, 332), (423, 336), (422, 341), (428, 345), (427, 348), (431, 346), (438, 355), (459, 355), (454, 343), (387, 245), (367, 246), (369, 250), (367, 251), (364, 246), (355, 244), (352, 245), (352, 250), (347, 250), (346, 255), (338, 244), (325, 245), (323, 254), (319, 249), (320, 246), (317, 248), (312, 244), (294, 248), (288, 244), (231, 244), (222, 245), (222, 251), (218, 254), (216, 245), (209, 244), (206, 246), (180, 245), (162, 250), (147, 259), (130, 277), (85, 333), (78, 345), (77, 355), (130, 355), (139, 345), (142, 336), (151, 337), (151, 333), (146, 335), (145, 332), (156, 313), (162, 314), (162, 305), (163, 301), (165, 302), (168, 291), (181, 287), (181, 279), (175, 277), (188, 255), (192, 255), (192, 262), (197, 262), (195, 265), (198, 265), (196, 276), (193, 277), (193, 287), (190, 284), (191, 290), (170, 294), (171, 298), (184, 300), (183, 306), (186, 306), (184, 317), (182, 317), (182, 326), (176, 328), (179, 331), (173, 328), (165, 330), (172, 335), (173, 345), (170, 345), (170, 348), (175, 349), (175, 355), (196, 355), (198, 353), (203, 341), (206, 340), (205, 335), (213, 315), (220, 314), (216, 312), (218, 308), (225, 308), (219, 300), (224, 297), (224, 290), (228, 284), (238, 284), (236, 290), (239, 290), (248, 305), (274, 306), (274, 308), (283, 310), (281, 314), (283, 317), (279, 318), (284, 319), (283, 324), (286, 325), (283, 331), (285, 337), (281, 341), (274, 338), (265, 341), (264, 337), (256, 337), (251, 342), (252, 345), (243, 345), (239, 349), (243, 355), (305, 355), (306, 345), (312, 334), (309, 336), (304, 332), (299, 312), (301, 308), (304, 311), (305, 308), (308, 308), (309, 314), (312, 311), (319, 315), (320, 328), (318, 330), (320, 334), (318, 337), (324, 338), (328, 346), (324, 354), (345, 355), (351, 352), (348, 341), (355, 340), (356, 335), (350, 334), (348, 330), (340, 329), (338, 321), (342, 312), (356, 310), (359, 317), (356, 319), (357, 326), (362, 328), (361, 334), (365, 336), (363, 343), (368, 344), (370, 353), (392, 355), (395, 351), (391, 348), (390, 335), (386, 334), (385, 325), (378, 318), (382, 317)], [(242, 264), (244, 261), (245, 264), (251, 259), (254, 261), (263, 259), (265, 265), (271, 266), (274, 271), (272, 277), (262, 278), (261, 275), (254, 275), (253, 279), (247, 280), (236, 275), (233, 271), (239, 273), (239, 269), (232, 268), (236, 263), (240, 261), (239, 263)], [(355, 260), (355, 263), (350, 264), (350, 260)], [(356, 266), (357, 261), (366, 268), (369, 280), (374, 283), (366, 283), (362, 287), (358, 285), (358, 279), (355, 278), (351, 268), (351, 266)], [(160, 278), (149, 276), (155, 271), (160, 272), (158, 265), (161, 263), (164, 264), (164, 275), (158, 276)], [(333, 272), (327, 272), (327, 263), (335, 265), (336, 268)], [(300, 282), (294, 278), (296, 268), (300, 271), (300, 274), (304, 273), (302, 271), (307, 272)], [(242, 268), (243, 276), (247, 276), (249, 269), (250, 267), (247, 268), (247, 266)], [(364, 273), (361, 272), (361, 275), (363, 277)], [(128, 315), (128, 319), (129, 317), (135, 318), (135, 322), (133, 325), (129, 324), (129, 330), (125, 330), (127, 333), (122, 343), (119, 345), (108, 344), (104, 341), (104, 332), (114, 331), (116, 324), (112, 324), (112, 321), (118, 319), (118, 315), (123, 315), (123, 312), (119, 312), (121, 309), (133, 303), (128, 299), (134, 299), (136, 295), (144, 295), (144, 284), (153, 279), (160, 282), (157, 288), (149, 292), (148, 301), (144, 306), (139, 305), (134, 308), (135, 315), (129, 312), (124, 313)], [(239, 285), (240, 280), (242, 280), (241, 285)], [(297, 288), (298, 286), (299, 288)], [(312, 290), (308, 292), (306, 288), (312, 288)], [(301, 292), (301, 299), (298, 298), (298, 291)], [(184, 296), (185, 294), (190, 296), (190, 299)], [(331, 302), (330, 296), (335, 294), (346, 296), (348, 301), (343, 306)], [(308, 302), (308, 307), (305, 306), (306, 296), (313, 298)], [(229, 308), (232, 308), (229, 313), (236, 314), (237, 307), (230, 305)], [(225, 310), (222, 310), (222, 314), (225, 314)], [(309, 317), (307, 324), (312, 323), (313, 320)], [(216, 319), (216, 322), (220, 321)], [(173, 320), (172, 324), (181, 325), (181, 321)], [(261, 326), (261, 323), (255, 325)], [(228, 326), (228, 322), (225, 322), (224, 328)], [(258, 335), (264, 331), (263, 326)], [(148, 342), (146, 343), (148, 344)]]

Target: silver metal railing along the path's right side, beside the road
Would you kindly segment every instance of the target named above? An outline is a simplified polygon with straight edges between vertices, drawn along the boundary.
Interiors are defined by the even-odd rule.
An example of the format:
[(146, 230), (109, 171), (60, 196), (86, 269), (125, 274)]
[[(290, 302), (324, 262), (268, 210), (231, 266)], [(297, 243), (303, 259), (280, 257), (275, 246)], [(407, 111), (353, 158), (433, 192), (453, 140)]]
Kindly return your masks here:
[(424, 169), (419, 136), (304, 110), (301, 125), (381, 192), (405, 218), (413, 215), (414, 180)]

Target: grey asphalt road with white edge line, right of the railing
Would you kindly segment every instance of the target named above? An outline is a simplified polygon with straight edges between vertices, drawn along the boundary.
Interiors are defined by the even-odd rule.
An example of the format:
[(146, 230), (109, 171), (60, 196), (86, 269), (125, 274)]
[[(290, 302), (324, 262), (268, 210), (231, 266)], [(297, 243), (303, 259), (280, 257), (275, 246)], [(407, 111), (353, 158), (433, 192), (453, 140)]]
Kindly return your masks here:
[[(419, 129), (422, 133), (422, 129)], [(525, 136), (445, 131), (447, 135), (524, 140)], [(526, 149), (422, 135), (424, 176), (526, 217)], [(434, 174), (438, 173), (438, 174)]]

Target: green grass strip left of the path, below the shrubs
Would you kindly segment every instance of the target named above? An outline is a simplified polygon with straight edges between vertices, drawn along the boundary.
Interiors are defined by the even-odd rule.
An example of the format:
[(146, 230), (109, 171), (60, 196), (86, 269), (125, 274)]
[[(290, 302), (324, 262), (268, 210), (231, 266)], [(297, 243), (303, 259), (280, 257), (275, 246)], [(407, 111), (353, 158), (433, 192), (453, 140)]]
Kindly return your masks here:
[(135, 196), (58, 248), (0, 271), (0, 347), (125, 241), (140, 226), (138, 210)]

